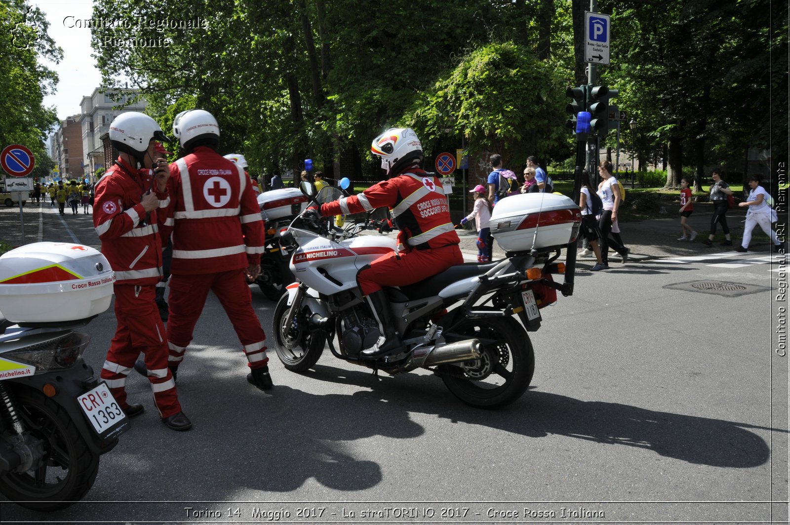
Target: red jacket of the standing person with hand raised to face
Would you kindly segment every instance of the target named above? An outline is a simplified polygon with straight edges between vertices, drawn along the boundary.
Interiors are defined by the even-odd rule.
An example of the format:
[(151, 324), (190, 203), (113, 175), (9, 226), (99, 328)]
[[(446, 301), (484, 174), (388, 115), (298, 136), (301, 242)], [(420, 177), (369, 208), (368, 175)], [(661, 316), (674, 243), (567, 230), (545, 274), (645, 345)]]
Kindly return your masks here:
[[(146, 219), (140, 204), (151, 179), (151, 170), (137, 170), (119, 158), (96, 184), (93, 226), (117, 282), (123, 284), (155, 285), (162, 277), (162, 239), (167, 237), (160, 236), (160, 229), (166, 215), (154, 210)], [(164, 211), (167, 192), (156, 191), (156, 196)]]

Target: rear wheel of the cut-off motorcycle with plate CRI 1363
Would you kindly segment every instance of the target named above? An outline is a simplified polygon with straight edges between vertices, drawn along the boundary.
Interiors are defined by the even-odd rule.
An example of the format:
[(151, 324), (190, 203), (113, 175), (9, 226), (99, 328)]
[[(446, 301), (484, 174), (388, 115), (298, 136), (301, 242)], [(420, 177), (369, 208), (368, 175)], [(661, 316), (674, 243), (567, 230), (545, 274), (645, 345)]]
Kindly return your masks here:
[[(24, 388), (13, 389), (13, 400), (25, 433), (41, 440), (44, 455), (27, 472), (0, 476), (0, 493), (36, 511), (55, 511), (81, 500), (96, 480), (99, 455), (55, 401)], [(2, 440), (7, 443), (12, 432), (9, 421), (2, 421)]]

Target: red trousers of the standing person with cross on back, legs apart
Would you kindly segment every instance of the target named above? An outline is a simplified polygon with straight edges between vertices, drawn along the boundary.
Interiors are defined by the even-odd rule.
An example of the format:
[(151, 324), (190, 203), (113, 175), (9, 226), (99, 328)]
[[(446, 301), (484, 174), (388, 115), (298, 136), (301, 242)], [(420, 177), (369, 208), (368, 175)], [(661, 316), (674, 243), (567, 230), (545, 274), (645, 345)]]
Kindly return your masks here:
[(192, 341), (195, 323), (203, 312), (211, 290), (233, 324), (243, 345), (250, 368), (261, 368), (269, 362), (264, 341), (266, 334), (252, 308), (252, 293), (246, 284), (244, 270), (216, 274), (172, 274), (170, 278), (170, 316), (167, 319), (167, 342), (170, 366), (177, 368), (183, 361), (186, 347)]

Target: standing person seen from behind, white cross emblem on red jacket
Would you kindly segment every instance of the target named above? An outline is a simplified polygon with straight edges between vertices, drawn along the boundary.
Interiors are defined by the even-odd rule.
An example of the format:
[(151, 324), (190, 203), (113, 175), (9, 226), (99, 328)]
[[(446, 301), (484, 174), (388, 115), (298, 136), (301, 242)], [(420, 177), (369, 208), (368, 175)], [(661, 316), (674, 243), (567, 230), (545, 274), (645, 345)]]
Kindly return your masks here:
[(170, 166), (169, 366), (175, 371), (183, 361), (211, 290), (242, 343), (250, 368), (247, 380), (260, 390), (269, 390), (266, 336), (246, 281), (254, 281), (261, 271), (265, 236), (250, 177), (238, 164), (216, 153), (220, 127), (208, 111), (180, 113), (173, 133), (186, 156)]

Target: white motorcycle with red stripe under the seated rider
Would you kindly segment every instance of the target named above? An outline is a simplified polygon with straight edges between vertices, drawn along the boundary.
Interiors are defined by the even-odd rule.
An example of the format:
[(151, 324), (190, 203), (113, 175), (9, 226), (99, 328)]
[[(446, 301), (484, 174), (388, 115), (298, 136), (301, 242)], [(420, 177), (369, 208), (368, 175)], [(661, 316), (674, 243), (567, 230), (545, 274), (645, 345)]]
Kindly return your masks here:
[[(344, 183), (341, 187), (347, 187)], [(312, 195), (310, 183), (303, 183), (302, 190), (316, 204), (341, 195), (337, 187)], [(508, 251), (494, 263), (453, 266), (413, 285), (386, 288), (405, 350), (378, 357), (361, 354), (381, 334), (356, 274), (396, 251), (395, 240), (363, 235), (370, 221), (338, 229), (325, 218), (311, 221), (308, 213), (300, 213), (280, 238), (292, 253), (290, 268), (296, 277), (274, 311), (274, 347), (280, 361), (288, 370), (304, 372), (328, 343), (335, 357), (374, 372), (431, 370), (453, 395), (472, 406), (493, 409), (520, 398), (535, 370), (527, 332), (540, 327), (540, 308), (556, 300), (558, 289), (566, 296), (573, 293), (574, 241), (581, 224), (578, 206), (570, 198), (543, 195), (509, 197), (506, 201), (515, 199), (510, 208), (499, 204), (502, 220), (495, 223), (492, 217), (492, 232), (501, 245), (525, 249)], [(523, 208), (516, 202), (519, 197), (528, 208), (538, 200), (548, 202), (549, 210), (539, 208), (536, 217), (516, 210), (505, 217)], [(541, 214), (547, 221), (541, 221)], [(543, 231), (538, 235), (541, 227), (548, 236)], [(522, 238), (526, 241), (514, 243)], [(555, 244), (543, 247), (547, 243)], [(569, 245), (566, 263), (556, 263), (560, 249)], [(562, 284), (551, 278), (562, 273)]]

